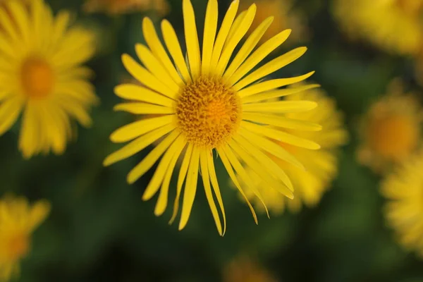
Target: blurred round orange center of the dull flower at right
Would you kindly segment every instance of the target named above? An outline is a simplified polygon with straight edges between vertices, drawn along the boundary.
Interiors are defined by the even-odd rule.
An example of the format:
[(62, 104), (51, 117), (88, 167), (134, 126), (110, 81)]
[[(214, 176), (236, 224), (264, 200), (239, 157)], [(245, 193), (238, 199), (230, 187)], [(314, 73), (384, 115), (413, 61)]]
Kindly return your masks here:
[(372, 149), (381, 156), (401, 159), (415, 149), (419, 126), (409, 116), (384, 116), (370, 121), (367, 136)]

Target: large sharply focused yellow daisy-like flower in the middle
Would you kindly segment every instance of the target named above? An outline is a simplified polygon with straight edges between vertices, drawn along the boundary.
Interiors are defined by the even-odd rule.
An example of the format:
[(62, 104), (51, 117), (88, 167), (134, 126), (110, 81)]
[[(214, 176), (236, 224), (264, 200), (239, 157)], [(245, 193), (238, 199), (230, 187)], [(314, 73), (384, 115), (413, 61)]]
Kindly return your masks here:
[[(231, 61), (233, 51), (252, 24), (256, 11), (256, 6), (253, 4), (245, 13), (235, 18), (238, 5), (238, 0), (232, 2), (217, 32), (217, 1), (208, 2), (201, 53), (192, 4), (189, 0), (183, 0), (188, 64), (180, 49), (176, 32), (167, 20), (161, 22), (161, 30), (168, 53), (176, 66), (168, 57), (149, 18), (145, 18), (142, 24), (148, 47), (143, 44), (137, 44), (135, 47), (137, 56), (144, 66), (127, 54), (122, 56), (125, 68), (145, 87), (133, 84), (118, 85), (115, 89), (116, 94), (133, 102), (118, 104), (116, 110), (162, 116), (130, 123), (112, 133), (113, 142), (131, 140), (132, 142), (107, 157), (104, 165), (108, 166), (128, 158), (164, 137), (160, 144), (130, 171), (128, 183), (134, 183), (163, 156), (142, 197), (143, 200), (149, 200), (160, 190), (155, 214), (161, 215), (167, 206), (169, 182), (176, 161), (181, 157), (183, 162), (178, 175), (171, 219), (173, 222), (178, 213), (179, 198), (186, 178), (180, 230), (185, 227), (190, 216), (199, 171), (219, 234), (223, 235), (226, 230), (226, 217), (214, 169), (214, 152), (219, 154), (229, 176), (240, 191), (243, 189), (235, 173), (238, 173), (247, 185), (251, 184), (250, 176), (241, 164), (245, 162), (247, 166), (257, 170), (269, 186), (292, 198), (293, 186), (290, 180), (265, 152), (274, 152), (278, 158), (285, 159), (290, 164), (302, 165), (286, 150), (275, 146), (267, 138), (307, 149), (319, 149), (319, 145), (315, 142), (266, 126), (267, 124), (278, 124), (281, 127), (295, 125), (295, 128), (309, 126), (308, 123), (280, 118), (275, 113), (307, 111), (317, 106), (315, 102), (263, 101), (269, 97), (280, 97), (295, 92), (295, 89), (280, 90), (278, 87), (305, 80), (314, 72), (293, 78), (262, 81), (266, 75), (298, 59), (305, 53), (306, 48), (294, 49), (252, 71), (290, 34), (290, 30), (280, 32), (256, 49), (259, 39), (273, 20), (270, 17), (252, 32)], [(223, 228), (213, 192), (223, 216)], [(258, 191), (256, 195), (262, 199)], [(248, 205), (257, 222), (257, 216), (250, 202)]]

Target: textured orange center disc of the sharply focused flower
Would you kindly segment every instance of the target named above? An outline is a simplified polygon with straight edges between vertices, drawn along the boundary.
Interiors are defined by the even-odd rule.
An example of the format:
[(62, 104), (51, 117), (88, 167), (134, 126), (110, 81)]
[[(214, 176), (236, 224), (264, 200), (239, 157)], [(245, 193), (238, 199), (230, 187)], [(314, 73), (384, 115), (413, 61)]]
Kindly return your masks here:
[(238, 128), (240, 98), (221, 80), (200, 77), (183, 88), (176, 101), (176, 117), (188, 142), (212, 149)]

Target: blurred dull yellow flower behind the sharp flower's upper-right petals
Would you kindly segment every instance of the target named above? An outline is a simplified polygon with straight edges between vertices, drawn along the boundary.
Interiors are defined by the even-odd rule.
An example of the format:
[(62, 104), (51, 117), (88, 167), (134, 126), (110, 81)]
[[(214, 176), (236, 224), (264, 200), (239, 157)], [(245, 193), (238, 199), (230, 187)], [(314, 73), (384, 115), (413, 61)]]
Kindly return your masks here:
[(293, 9), (292, 0), (243, 0), (240, 1), (240, 11), (246, 10), (254, 2), (257, 5), (257, 13), (248, 34), (251, 34), (266, 18), (274, 16), (273, 23), (260, 39), (261, 43), (277, 35), (280, 30), (286, 29), (293, 30), (288, 40), (290, 42), (303, 41), (307, 37), (305, 17)]

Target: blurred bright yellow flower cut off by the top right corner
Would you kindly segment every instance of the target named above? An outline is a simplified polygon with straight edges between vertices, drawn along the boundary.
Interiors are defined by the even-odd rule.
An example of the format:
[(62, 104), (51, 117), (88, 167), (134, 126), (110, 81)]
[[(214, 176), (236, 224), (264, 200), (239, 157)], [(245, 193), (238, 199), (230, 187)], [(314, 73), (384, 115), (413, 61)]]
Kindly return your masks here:
[(367, 39), (394, 54), (414, 55), (423, 43), (423, 1), (335, 0), (333, 13), (353, 39)]

